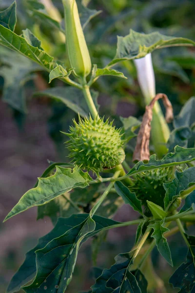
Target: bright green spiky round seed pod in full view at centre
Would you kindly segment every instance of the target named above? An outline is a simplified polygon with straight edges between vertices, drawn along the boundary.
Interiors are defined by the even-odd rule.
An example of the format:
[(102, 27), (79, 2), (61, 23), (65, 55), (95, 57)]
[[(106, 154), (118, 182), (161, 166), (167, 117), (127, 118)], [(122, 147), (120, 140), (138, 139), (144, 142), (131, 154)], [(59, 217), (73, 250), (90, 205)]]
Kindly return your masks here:
[(99, 173), (103, 168), (112, 168), (124, 161), (120, 129), (112, 126), (113, 122), (103, 121), (103, 118), (90, 117), (73, 120), (70, 126), (68, 149), (73, 162), (87, 170)]

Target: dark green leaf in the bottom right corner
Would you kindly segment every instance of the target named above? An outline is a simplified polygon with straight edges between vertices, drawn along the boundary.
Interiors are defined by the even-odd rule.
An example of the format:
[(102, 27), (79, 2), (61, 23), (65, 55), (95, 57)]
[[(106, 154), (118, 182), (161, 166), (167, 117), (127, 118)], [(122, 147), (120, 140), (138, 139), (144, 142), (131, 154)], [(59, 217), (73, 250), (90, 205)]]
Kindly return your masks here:
[(190, 249), (186, 262), (176, 269), (176, 272), (169, 279), (174, 288), (179, 288), (180, 293), (195, 292), (195, 236), (186, 235)]

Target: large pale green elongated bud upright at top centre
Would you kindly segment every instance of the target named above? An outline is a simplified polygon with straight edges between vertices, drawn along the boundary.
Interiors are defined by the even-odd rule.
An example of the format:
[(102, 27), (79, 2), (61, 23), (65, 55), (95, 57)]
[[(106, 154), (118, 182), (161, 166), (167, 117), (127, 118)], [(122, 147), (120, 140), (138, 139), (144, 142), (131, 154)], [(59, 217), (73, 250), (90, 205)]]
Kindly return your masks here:
[(62, 0), (65, 15), (68, 58), (74, 73), (85, 77), (91, 72), (91, 59), (80, 24), (76, 0)]

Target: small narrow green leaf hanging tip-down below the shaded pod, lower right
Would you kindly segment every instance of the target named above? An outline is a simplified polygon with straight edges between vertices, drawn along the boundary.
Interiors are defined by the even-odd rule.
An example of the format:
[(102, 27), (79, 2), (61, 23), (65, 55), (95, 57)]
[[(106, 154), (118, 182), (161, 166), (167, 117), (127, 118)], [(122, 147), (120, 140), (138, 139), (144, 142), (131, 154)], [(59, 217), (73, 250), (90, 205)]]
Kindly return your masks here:
[(163, 225), (164, 219), (161, 221), (156, 220), (154, 224), (151, 224), (148, 227), (154, 230), (151, 237), (155, 238), (158, 251), (166, 259), (166, 261), (173, 267), (171, 251), (167, 239), (164, 237), (164, 233), (169, 231), (169, 229), (164, 227)]

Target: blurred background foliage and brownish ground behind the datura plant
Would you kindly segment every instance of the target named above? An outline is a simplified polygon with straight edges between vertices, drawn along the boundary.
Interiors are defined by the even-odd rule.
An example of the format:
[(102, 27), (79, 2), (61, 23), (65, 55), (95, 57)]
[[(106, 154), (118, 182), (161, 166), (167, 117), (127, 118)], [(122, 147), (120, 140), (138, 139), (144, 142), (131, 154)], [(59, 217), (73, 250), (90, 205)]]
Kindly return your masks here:
[[(12, 0), (0, 0), (0, 10), (4, 10), (11, 3)], [(61, 0), (53, 0), (53, 4), (59, 9), (63, 27)], [(165, 35), (195, 40), (194, 0), (82, 0), (82, 3), (78, 0), (78, 7), (92, 63), (98, 64), (99, 68), (104, 67), (115, 56), (117, 35), (127, 35), (130, 28), (137, 32), (158, 31)], [(18, 22), (15, 32), (21, 35), (22, 30), (28, 27), (41, 41), (42, 48), (68, 67), (63, 35), (56, 30), (55, 23), (43, 23), (44, 18), (36, 12), (39, 8), (44, 6), (38, 0), (17, 0)], [(156, 74), (156, 93), (162, 92), (169, 97), (177, 115), (186, 101), (195, 94), (195, 49), (174, 47), (156, 50), (152, 53), (152, 58)], [(135, 116), (141, 120), (144, 100), (137, 83), (134, 63), (125, 61), (117, 64), (115, 69), (123, 72), (128, 79), (109, 76), (99, 78), (93, 88), (99, 92), (100, 115), (115, 118), (117, 126), (122, 126), (119, 116)], [(79, 99), (67, 91), (68, 85), (59, 80), (54, 80), (51, 84), (48, 81), (48, 73), (37, 64), (0, 46), (0, 159), (3, 170), (0, 171), (1, 219), (13, 203), (28, 188), (32, 188), (36, 177), (48, 166), (47, 159), (68, 161), (63, 145), (65, 137), (59, 130), (67, 131), (77, 115), (67, 108), (63, 99), (51, 99), (44, 92), (39, 92), (65, 86), (63, 98), (74, 99), (76, 104)], [(170, 127), (174, 128), (172, 125)], [(129, 157), (134, 146), (135, 139), (128, 145)], [(172, 145), (170, 150), (171, 148)], [(117, 220), (131, 220), (135, 217), (135, 212), (129, 207), (124, 206), (121, 209), (122, 215), (119, 210), (115, 216)], [(34, 223), (35, 217), (36, 210), (32, 209), (17, 216), (14, 224), (13, 221), (8, 221), (3, 226), (0, 224), (2, 292), (5, 292), (10, 277), (21, 264), (24, 252), (33, 247), (39, 236), (51, 230), (52, 224), (48, 218)], [(9, 238), (12, 232), (13, 237)], [(135, 229), (129, 227), (110, 231), (108, 241), (102, 245), (102, 253), (98, 255), (98, 266), (109, 267), (115, 255), (128, 251), (134, 244), (134, 235)], [(172, 237), (170, 243), (175, 266), (184, 260), (186, 253), (184, 243), (179, 237)], [(178, 242), (181, 243), (179, 247)], [(178, 255), (182, 259), (178, 260)], [(88, 243), (79, 254), (76, 277), (67, 292), (77, 293), (82, 289), (89, 289), (93, 282), (92, 272), (89, 270), (90, 256)], [(168, 283), (172, 268), (168, 267), (156, 251), (153, 258), (157, 273)], [(167, 292), (176, 290), (167, 285)]]

